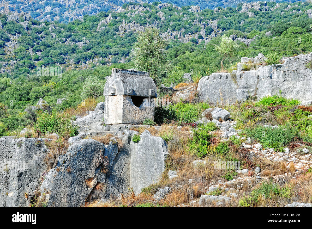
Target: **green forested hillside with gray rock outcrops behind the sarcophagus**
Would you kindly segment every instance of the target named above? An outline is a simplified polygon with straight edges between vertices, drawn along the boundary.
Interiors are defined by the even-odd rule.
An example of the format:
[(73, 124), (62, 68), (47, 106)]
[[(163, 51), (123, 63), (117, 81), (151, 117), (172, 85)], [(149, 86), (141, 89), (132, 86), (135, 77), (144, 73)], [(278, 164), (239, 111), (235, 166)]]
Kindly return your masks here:
[[(84, 15), (69, 23), (40, 22), (27, 13), (0, 15), (0, 132), (22, 129), (34, 120), (27, 104), (43, 98), (51, 109), (78, 105), (88, 76), (105, 82), (111, 68), (133, 68), (132, 49), (139, 32), (156, 27), (168, 41), (170, 64), (160, 83), (170, 86), (185, 72), (199, 78), (220, 70), (215, 51), (221, 35), (235, 40), (238, 52), (224, 60), (225, 70), (241, 57), (292, 56), (312, 50), (312, 3), (258, 2), (238, 7), (202, 9), (170, 4), (123, 4), (113, 12)], [(37, 67), (63, 67), (62, 77), (39, 75)], [(66, 97), (57, 104), (58, 98)]]

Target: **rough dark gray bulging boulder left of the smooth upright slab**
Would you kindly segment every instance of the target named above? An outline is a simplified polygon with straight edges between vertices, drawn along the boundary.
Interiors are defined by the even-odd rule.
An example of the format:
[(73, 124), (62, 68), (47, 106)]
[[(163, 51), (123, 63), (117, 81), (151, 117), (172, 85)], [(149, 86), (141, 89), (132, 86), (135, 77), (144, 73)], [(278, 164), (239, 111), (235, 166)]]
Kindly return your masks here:
[[(84, 139), (70, 145), (42, 182), (41, 195), (46, 193), (48, 207), (80, 207), (99, 183), (105, 184), (104, 197), (116, 194), (117, 190), (123, 193), (127, 187), (124, 184), (128, 182), (129, 185), (129, 179), (124, 179), (129, 173), (123, 174), (122, 169), (115, 168), (117, 154), (118, 147), (113, 142), (104, 146), (93, 139)], [(103, 165), (99, 165), (100, 155), (108, 158), (106, 173), (101, 171)], [(112, 186), (116, 189), (114, 193), (111, 193)]]

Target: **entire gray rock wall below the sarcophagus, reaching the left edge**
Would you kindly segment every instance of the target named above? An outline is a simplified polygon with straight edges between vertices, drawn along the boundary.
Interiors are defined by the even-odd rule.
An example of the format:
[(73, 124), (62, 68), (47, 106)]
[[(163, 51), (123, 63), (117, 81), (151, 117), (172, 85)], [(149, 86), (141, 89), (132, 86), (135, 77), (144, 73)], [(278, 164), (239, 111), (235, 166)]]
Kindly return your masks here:
[[(92, 112), (85, 120), (96, 114), (102, 115)], [(38, 200), (38, 194), (47, 207), (80, 207), (93, 199), (128, 194), (129, 188), (138, 194), (143, 187), (157, 182), (165, 170), (167, 145), (161, 137), (145, 130), (141, 140), (134, 143), (131, 139), (139, 132), (129, 130), (133, 125), (107, 125), (106, 130), (100, 131), (90, 131), (82, 124), (81, 127), (79, 135), (69, 139), (71, 145), (66, 154), (58, 157), (51, 170), (45, 163), (49, 153), (45, 141), (51, 139), (1, 137), (0, 162), (23, 161), (25, 169), (0, 169), (0, 207), (28, 207), (33, 197)], [(121, 142), (113, 137), (104, 145), (90, 138), (106, 134)], [(105, 165), (101, 158), (106, 158)]]

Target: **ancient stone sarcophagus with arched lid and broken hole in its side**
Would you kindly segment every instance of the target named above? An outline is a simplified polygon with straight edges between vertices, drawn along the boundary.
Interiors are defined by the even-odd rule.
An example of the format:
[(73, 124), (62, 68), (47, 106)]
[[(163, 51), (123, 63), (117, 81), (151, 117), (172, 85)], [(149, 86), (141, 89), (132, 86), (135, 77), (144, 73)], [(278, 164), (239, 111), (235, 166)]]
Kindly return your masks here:
[(157, 89), (148, 72), (113, 68), (105, 83), (104, 96), (104, 122), (107, 125), (154, 120), (151, 100), (157, 97)]

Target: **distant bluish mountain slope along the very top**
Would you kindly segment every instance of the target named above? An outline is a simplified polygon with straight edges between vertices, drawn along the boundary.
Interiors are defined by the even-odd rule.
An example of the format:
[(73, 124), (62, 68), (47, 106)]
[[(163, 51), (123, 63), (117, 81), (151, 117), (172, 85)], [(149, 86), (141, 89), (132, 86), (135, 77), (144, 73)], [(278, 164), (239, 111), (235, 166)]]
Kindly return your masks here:
[[(146, 1), (128, 1), (128, 0), (33, 0), (33, 1), (17, 1), (7, 0), (1, 1), (1, 11), (12, 12), (27, 12), (32, 18), (40, 21), (59, 21), (59, 22), (71, 22), (77, 18), (82, 18), (83, 15), (95, 15), (98, 12), (109, 10), (120, 10), (124, 3), (138, 2), (143, 4)], [(154, 2), (154, 5), (157, 2)], [(214, 9), (216, 7), (236, 7), (242, 5), (245, 2), (257, 2), (255, 0), (162, 0), (159, 2), (170, 2), (178, 7), (183, 6), (199, 6), (201, 9), (209, 8)], [(296, 0), (284, 1), (277, 0), (273, 2), (297, 2)], [(145, 3), (147, 4), (147, 3)], [(157, 4), (158, 5), (158, 4)]]

